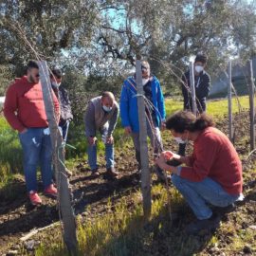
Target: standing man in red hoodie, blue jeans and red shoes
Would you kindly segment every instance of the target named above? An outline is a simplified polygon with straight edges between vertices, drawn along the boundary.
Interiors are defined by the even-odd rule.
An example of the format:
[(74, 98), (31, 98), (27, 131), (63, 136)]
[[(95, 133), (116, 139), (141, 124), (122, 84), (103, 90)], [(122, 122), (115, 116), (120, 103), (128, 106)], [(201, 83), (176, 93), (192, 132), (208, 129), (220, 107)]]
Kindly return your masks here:
[[(56, 196), (57, 190), (52, 184), (52, 147), (49, 135), (43, 91), (39, 82), (39, 66), (30, 61), (27, 64), (27, 76), (16, 79), (9, 85), (4, 105), (4, 115), (9, 125), (19, 133), (23, 149), (23, 167), (27, 192), (32, 205), (42, 203), (37, 193), (36, 169), (41, 167), (45, 193)], [(56, 115), (59, 115), (59, 103), (52, 93)]]

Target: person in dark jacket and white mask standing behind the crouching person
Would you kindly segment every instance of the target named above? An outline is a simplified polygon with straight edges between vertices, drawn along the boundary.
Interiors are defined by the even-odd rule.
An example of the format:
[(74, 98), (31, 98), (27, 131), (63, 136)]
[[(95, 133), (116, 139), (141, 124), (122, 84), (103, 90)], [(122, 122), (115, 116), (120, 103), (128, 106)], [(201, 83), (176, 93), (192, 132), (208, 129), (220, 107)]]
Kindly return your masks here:
[[(194, 60), (194, 89), (196, 112), (200, 114), (206, 112), (206, 99), (210, 92), (210, 75), (205, 71), (206, 64), (207, 56), (197, 54)], [(182, 76), (182, 94), (184, 98), (184, 110), (192, 111), (190, 70)], [(178, 155), (185, 155), (185, 151), (186, 143), (179, 143)], [(176, 162), (173, 164), (178, 165), (179, 163)]]

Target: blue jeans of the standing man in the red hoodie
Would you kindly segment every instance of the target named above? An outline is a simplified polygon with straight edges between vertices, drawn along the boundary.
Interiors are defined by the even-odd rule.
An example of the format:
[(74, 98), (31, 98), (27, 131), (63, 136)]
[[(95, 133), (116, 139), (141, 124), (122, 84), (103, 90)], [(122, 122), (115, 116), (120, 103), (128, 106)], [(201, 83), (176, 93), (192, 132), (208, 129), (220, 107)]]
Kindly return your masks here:
[(52, 147), (48, 128), (28, 128), (19, 134), (27, 191), (37, 191), (36, 171), (41, 167), (44, 188), (52, 184)]

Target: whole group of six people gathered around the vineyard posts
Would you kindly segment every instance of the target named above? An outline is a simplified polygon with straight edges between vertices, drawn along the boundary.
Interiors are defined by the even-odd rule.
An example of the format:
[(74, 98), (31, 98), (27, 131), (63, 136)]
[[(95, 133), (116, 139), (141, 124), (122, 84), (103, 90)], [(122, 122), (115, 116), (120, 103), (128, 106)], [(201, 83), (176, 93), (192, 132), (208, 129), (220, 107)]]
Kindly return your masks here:
[[(241, 198), (242, 165), (233, 145), (221, 131), (214, 128), (213, 120), (206, 115), (206, 99), (210, 92), (210, 76), (205, 71), (207, 57), (198, 54), (194, 61), (194, 83), (198, 116), (192, 114), (190, 71), (182, 77), (184, 110), (166, 119), (164, 97), (157, 78), (152, 75), (150, 64), (141, 62), (142, 85), (146, 102), (147, 135), (155, 154), (155, 174), (165, 180), (164, 172), (170, 172), (174, 187), (182, 193), (198, 221), (189, 227), (191, 233), (216, 225), (217, 216), (209, 204), (227, 207)], [(73, 118), (67, 92), (62, 88), (62, 73), (53, 69), (50, 75), (56, 113), (60, 113), (59, 125), (64, 142), (70, 120)], [(24, 172), (27, 192), (33, 205), (41, 204), (37, 193), (36, 168), (41, 166), (46, 194), (56, 196), (52, 181), (52, 149), (36, 62), (27, 64), (27, 75), (9, 86), (4, 114), (11, 127), (19, 132), (24, 153)], [(106, 178), (116, 178), (114, 138), (120, 114), (126, 134), (133, 139), (140, 172), (139, 121), (137, 113), (136, 74), (122, 84), (119, 103), (111, 92), (88, 102), (85, 114), (85, 137), (88, 141), (88, 163), (92, 177), (100, 175), (97, 163), (97, 133), (105, 144)], [(164, 151), (161, 129), (168, 129), (179, 144), (179, 151)], [(185, 156), (186, 143), (192, 140), (193, 152)], [(68, 172), (68, 170), (67, 170)]]

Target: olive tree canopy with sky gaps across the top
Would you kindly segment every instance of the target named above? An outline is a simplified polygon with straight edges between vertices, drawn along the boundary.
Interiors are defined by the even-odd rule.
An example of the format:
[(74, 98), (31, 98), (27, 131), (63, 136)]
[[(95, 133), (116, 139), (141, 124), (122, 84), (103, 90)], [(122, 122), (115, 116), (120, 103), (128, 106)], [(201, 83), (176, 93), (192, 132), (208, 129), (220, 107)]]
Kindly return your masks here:
[(20, 76), (34, 58), (22, 30), (50, 64), (72, 67), (87, 78), (119, 77), (139, 55), (161, 82), (174, 86), (177, 72), (159, 60), (184, 70), (192, 55), (204, 51), (208, 71), (215, 74), (230, 56), (254, 56), (255, 10), (255, 1), (239, 0), (1, 1), (0, 64)]

